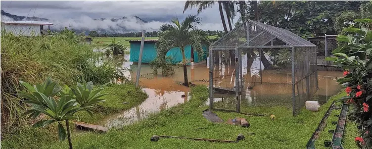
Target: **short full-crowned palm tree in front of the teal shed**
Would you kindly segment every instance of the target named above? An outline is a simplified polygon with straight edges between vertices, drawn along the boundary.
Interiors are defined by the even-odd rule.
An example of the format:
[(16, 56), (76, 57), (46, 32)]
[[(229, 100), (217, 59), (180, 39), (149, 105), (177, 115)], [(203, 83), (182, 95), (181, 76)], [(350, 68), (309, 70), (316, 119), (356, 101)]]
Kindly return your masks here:
[(180, 48), (185, 86), (189, 86), (186, 66), (188, 62), (184, 54), (185, 47), (191, 45), (194, 48), (194, 51), (202, 57), (204, 54), (202, 46), (209, 45), (207, 33), (196, 28), (197, 25), (201, 24), (200, 21), (200, 18), (195, 15), (189, 15), (182, 22), (179, 22), (178, 18), (174, 18), (171, 21), (173, 25), (168, 30), (161, 32), (159, 40), (156, 42), (158, 59), (160, 62), (165, 62), (165, 56), (171, 48)]

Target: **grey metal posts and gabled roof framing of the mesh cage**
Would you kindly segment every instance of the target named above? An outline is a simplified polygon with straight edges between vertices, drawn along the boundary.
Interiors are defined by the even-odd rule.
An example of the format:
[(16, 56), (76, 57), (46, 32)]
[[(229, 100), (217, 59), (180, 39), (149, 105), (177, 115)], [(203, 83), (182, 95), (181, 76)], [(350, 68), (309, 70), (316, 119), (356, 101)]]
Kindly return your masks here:
[[(245, 33), (244, 33), (244, 32)], [(274, 43), (274, 41), (281, 41)], [(278, 49), (278, 48), (289, 48), (291, 52), (291, 70), (292, 70), (292, 109), (293, 115), (296, 115), (296, 109), (299, 107), (303, 107), (304, 100), (299, 97), (300, 101), (296, 105), (296, 96), (300, 90), (297, 86), (297, 95), (296, 95), (296, 83), (306, 80), (306, 100), (309, 100), (313, 93), (318, 88), (317, 84), (317, 71), (316, 71), (316, 62), (313, 62), (313, 57), (316, 53), (316, 45), (312, 44), (311, 42), (297, 36), (296, 34), (282, 29), (277, 28), (274, 26), (270, 26), (267, 24), (263, 24), (260, 22), (247, 20), (243, 22), (241, 25), (237, 26), (236, 28), (229, 31), (227, 34), (222, 36), (220, 39), (215, 41), (209, 46), (209, 108), (211, 110), (222, 110), (222, 111), (230, 111), (230, 112), (238, 112), (241, 113), (241, 105), (240, 99), (241, 95), (245, 90), (243, 89), (243, 77), (242, 77), (242, 51), (248, 49), (258, 49), (260, 55), (260, 83), (262, 84), (262, 68), (261, 68), (261, 51), (262, 49)], [(229, 51), (235, 52), (235, 98), (236, 98), (236, 109), (220, 109), (214, 107), (214, 77), (213, 77), (213, 70), (214, 70), (214, 59), (212, 58), (213, 54), (218, 51)], [(299, 51), (299, 54), (303, 54), (303, 58), (296, 57), (296, 51)], [(311, 51), (311, 52), (310, 52)], [(297, 59), (296, 59), (297, 58)], [(232, 58), (231, 58), (232, 59)], [(310, 60), (311, 59), (311, 60)], [(231, 60), (232, 61), (232, 60)], [(298, 62), (301, 61), (301, 62)], [(300, 65), (301, 66), (297, 66)], [(304, 64), (304, 65), (302, 65)], [(299, 74), (296, 69), (301, 68), (304, 73)], [(296, 76), (297, 75), (297, 76)], [(316, 81), (311, 83), (310, 82), (310, 75), (315, 75)], [(299, 77), (300, 76), (300, 77)], [(296, 82), (297, 81), (297, 82)], [(314, 87), (314, 89), (310, 88), (310, 84)], [(289, 99), (290, 100), (290, 99)]]

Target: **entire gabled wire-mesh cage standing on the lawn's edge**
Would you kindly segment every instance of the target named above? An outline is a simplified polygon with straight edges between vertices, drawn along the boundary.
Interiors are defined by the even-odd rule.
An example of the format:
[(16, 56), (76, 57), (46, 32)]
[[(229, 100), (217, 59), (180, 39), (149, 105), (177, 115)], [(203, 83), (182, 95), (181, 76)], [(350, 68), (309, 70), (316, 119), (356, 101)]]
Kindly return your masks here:
[(210, 109), (297, 115), (316, 90), (316, 46), (248, 20), (210, 47)]

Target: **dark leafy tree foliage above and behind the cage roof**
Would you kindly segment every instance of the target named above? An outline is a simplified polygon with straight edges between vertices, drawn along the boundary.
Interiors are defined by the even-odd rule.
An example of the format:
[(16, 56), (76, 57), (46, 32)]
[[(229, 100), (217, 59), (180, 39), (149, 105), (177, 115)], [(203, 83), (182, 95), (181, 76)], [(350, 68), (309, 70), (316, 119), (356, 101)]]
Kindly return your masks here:
[[(258, 21), (287, 29), (301, 37), (337, 34), (335, 19), (344, 11), (359, 11), (367, 1), (260, 1)], [(247, 5), (246, 19), (254, 20), (254, 9)], [(343, 23), (343, 22), (342, 22)]]

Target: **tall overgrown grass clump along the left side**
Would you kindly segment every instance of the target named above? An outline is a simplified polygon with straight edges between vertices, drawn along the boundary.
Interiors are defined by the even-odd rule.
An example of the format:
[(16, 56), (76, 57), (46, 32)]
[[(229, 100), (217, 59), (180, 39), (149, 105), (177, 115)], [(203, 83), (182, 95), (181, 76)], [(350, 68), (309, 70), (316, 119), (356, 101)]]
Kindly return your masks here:
[(21, 114), (27, 109), (16, 94), (19, 80), (36, 84), (46, 77), (71, 85), (82, 79), (95, 84), (123, 78), (114, 65), (95, 65), (97, 54), (68, 29), (49, 36), (15, 36), (1, 32), (1, 127), (27, 126)]

